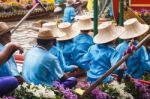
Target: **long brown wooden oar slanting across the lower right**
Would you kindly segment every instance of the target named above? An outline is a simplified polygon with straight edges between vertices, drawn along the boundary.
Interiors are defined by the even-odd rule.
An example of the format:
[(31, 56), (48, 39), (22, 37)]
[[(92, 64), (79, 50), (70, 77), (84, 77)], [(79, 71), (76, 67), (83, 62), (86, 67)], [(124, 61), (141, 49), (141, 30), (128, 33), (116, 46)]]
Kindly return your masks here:
[[(141, 42), (139, 42), (139, 44), (136, 46), (135, 51), (140, 48), (143, 43), (150, 38), (150, 34), (148, 34)], [(128, 53), (127, 55), (125, 55), (119, 62), (117, 62), (113, 67), (111, 67), (104, 75), (102, 75), (95, 83), (93, 83), (81, 96), (81, 99), (84, 99), (85, 96), (87, 96), (88, 94), (90, 94), (90, 92), (97, 87), (99, 84), (102, 83), (102, 81), (109, 76), (116, 68), (118, 68), (124, 61), (126, 61), (128, 59), (129, 56), (131, 56), (133, 53)]]

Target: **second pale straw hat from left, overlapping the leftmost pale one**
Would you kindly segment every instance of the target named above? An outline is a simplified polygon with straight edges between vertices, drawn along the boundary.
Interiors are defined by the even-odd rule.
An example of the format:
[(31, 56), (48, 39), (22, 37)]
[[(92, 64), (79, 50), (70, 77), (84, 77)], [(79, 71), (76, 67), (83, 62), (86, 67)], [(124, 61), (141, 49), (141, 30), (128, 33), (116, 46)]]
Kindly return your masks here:
[(58, 25), (58, 28), (60, 29), (60, 31), (66, 33), (66, 36), (57, 38), (58, 41), (69, 40), (69, 39), (72, 39), (72, 38), (76, 37), (79, 34), (78, 29), (73, 27), (71, 25), (71, 23), (67, 23), (67, 22), (60, 23)]

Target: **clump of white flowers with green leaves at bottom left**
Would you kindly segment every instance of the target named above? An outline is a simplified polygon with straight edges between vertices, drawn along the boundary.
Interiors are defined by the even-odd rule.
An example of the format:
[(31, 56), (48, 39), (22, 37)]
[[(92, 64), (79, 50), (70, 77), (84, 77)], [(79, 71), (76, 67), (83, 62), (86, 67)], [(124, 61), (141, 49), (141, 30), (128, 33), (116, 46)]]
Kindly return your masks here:
[(23, 83), (23, 85), (18, 86), (14, 92), (14, 97), (17, 99), (33, 99), (33, 98), (55, 98), (55, 93), (50, 87), (42, 85), (34, 85)]

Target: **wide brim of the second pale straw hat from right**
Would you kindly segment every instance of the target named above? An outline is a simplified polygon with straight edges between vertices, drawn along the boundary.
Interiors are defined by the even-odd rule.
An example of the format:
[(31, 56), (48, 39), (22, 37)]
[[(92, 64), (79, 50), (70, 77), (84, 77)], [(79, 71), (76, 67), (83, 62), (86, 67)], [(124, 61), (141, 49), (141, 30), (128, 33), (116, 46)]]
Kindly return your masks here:
[(124, 29), (123, 27), (117, 26), (117, 27), (113, 27), (113, 31), (111, 31), (111, 33), (98, 33), (93, 41), (96, 44), (104, 44), (104, 43), (109, 43), (115, 39), (117, 39), (122, 33), (123, 33)]

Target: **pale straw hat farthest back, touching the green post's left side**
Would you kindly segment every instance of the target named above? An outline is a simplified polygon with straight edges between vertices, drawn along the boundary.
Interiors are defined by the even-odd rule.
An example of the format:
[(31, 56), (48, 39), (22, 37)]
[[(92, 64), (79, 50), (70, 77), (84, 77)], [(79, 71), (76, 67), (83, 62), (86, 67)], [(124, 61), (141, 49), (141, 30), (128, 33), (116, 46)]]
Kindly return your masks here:
[(92, 30), (93, 29), (93, 21), (91, 20), (91, 16), (89, 15), (81, 15), (77, 17), (78, 21), (73, 24), (73, 26), (77, 27), (79, 30)]

